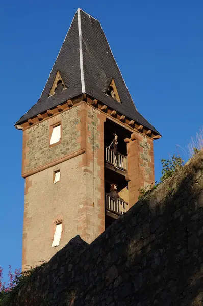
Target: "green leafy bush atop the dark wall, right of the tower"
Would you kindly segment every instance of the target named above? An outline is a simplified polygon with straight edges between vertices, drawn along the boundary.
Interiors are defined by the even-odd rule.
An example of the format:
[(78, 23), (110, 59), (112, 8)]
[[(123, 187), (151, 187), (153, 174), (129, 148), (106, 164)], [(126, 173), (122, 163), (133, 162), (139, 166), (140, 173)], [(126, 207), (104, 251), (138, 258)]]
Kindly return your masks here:
[(165, 179), (168, 179), (168, 177), (175, 174), (177, 171), (179, 171), (183, 167), (184, 160), (180, 157), (180, 155), (173, 155), (170, 159), (162, 159), (162, 177), (161, 182), (163, 182)]

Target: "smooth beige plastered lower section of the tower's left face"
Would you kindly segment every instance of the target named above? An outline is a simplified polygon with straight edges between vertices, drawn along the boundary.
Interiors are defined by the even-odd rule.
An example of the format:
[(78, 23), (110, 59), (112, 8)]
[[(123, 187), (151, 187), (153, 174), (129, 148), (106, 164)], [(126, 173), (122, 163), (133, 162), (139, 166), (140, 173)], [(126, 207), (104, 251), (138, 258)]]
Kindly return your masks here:
[[(49, 260), (77, 233), (78, 212), (87, 196), (86, 173), (79, 168), (82, 155), (47, 168), (29, 177), (32, 186), (25, 195), (23, 229), (23, 268)], [(53, 171), (60, 169), (61, 179), (53, 184)], [(74, 188), (71, 188), (74, 186)], [(62, 220), (63, 232), (59, 247), (52, 247), (53, 224)]]

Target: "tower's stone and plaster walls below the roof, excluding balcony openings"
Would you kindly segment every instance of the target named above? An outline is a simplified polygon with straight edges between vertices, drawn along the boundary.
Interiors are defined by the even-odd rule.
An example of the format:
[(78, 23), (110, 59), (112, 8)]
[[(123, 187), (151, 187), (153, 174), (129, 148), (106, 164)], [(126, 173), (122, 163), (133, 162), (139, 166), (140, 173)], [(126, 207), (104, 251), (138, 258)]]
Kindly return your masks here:
[[(49, 260), (77, 234), (91, 243), (105, 230), (107, 117), (108, 114), (81, 102), (23, 131), (23, 269)], [(61, 141), (49, 146), (49, 131), (57, 122), (62, 127)], [(126, 128), (125, 124), (118, 124)], [(131, 139), (127, 141), (126, 190), (130, 207), (138, 199), (138, 188), (154, 182), (153, 141), (131, 130)], [(58, 170), (60, 181), (54, 184), (53, 173)], [(60, 246), (52, 247), (57, 220), (62, 222), (62, 237)]]

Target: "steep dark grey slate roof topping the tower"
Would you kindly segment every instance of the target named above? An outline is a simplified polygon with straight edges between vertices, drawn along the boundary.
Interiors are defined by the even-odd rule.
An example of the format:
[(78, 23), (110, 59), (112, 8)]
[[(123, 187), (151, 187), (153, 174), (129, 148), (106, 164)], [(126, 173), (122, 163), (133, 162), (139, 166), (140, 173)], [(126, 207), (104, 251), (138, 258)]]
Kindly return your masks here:
[[(48, 96), (58, 70), (67, 89)], [(112, 78), (121, 103), (106, 94)], [(16, 124), (21, 124), (83, 92), (160, 134), (137, 111), (100, 22), (78, 9), (39, 100)]]

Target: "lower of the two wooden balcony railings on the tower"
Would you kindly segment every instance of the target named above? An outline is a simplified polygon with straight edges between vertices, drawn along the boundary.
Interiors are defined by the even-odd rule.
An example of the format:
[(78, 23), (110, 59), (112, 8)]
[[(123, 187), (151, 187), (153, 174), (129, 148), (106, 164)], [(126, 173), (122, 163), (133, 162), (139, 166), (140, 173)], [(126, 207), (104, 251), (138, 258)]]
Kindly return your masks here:
[(107, 215), (115, 219), (119, 218), (129, 210), (128, 203), (120, 200), (113, 201), (107, 193), (105, 198), (105, 206)]

